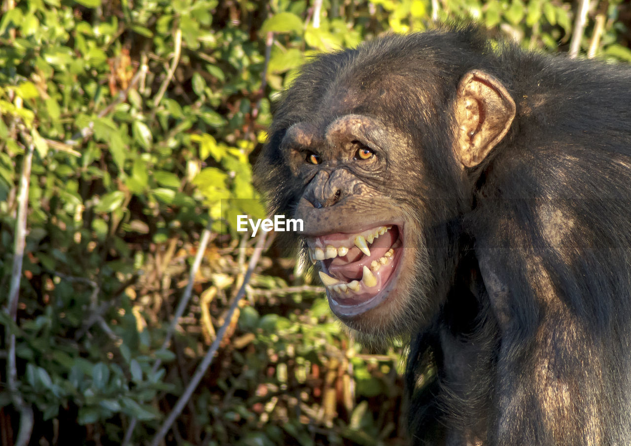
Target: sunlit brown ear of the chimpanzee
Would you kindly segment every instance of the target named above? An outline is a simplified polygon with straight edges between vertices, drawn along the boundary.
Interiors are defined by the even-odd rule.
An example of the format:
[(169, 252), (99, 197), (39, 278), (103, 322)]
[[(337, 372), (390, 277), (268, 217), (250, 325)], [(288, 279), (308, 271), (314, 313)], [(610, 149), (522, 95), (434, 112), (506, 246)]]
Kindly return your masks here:
[(456, 154), (477, 166), (504, 138), (515, 118), (515, 101), (504, 85), (483, 71), (469, 71), (458, 85)]

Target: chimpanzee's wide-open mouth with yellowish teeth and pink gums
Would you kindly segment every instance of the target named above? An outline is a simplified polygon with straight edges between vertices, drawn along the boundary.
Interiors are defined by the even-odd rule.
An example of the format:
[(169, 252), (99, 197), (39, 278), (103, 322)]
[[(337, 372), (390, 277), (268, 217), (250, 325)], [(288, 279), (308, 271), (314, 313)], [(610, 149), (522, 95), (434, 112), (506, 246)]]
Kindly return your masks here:
[(320, 262), (319, 274), (329, 298), (342, 306), (378, 304), (385, 299), (401, 257), (401, 229), (389, 224), (355, 234), (307, 238), (309, 256), (313, 263)]

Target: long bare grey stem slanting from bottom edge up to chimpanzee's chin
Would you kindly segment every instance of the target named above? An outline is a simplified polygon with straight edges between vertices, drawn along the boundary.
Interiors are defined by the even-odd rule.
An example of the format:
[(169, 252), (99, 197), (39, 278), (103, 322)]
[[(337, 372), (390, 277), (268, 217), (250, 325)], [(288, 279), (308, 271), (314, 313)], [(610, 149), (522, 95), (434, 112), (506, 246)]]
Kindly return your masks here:
[(221, 325), (221, 328), (217, 332), (217, 337), (215, 338), (213, 345), (210, 347), (210, 349), (208, 349), (208, 352), (206, 352), (206, 355), (204, 356), (204, 359), (202, 359), (201, 363), (199, 363), (199, 366), (197, 370), (195, 371), (195, 374), (191, 378), (191, 382), (186, 387), (186, 390), (184, 390), (184, 394), (182, 394), (180, 399), (177, 400), (177, 403), (175, 403), (175, 407), (172, 409), (171, 413), (168, 414), (167, 419), (163, 421), (162, 426), (160, 426), (160, 430), (158, 430), (156, 435), (153, 437), (153, 440), (151, 440), (151, 446), (158, 446), (160, 442), (162, 442), (165, 435), (167, 435), (168, 430), (173, 425), (175, 419), (180, 415), (180, 413), (182, 412), (182, 409), (184, 409), (184, 406), (186, 406), (187, 402), (191, 398), (191, 395), (193, 394), (195, 389), (197, 389), (199, 382), (201, 381), (201, 378), (203, 378), (204, 374), (206, 373), (206, 370), (208, 370), (208, 367), (213, 362), (215, 353), (219, 349), (221, 341), (223, 341), (223, 337), (225, 336), (228, 330), (228, 327), (230, 326), (230, 321), (232, 321), (232, 315), (237, 309), (237, 306), (239, 306), (239, 301), (245, 295), (245, 286), (247, 286), (247, 283), (249, 282), (250, 277), (252, 276), (252, 272), (254, 271), (256, 264), (259, 262), (259, 258), (261, 257), (261, 253), (263, 251), (263, 246), (265, 244), (265, 238), (267, 234), (268, 234), (267, 232), (262, 232), (260, 238), (256, 242), (256, 246), (254, 247), (254, 253), (252, 254), (252, 257), (250, 258), (250, 263), (248, 265), (247, 272), (245, 273), (243, 284), (241, 285), (241, 288), (239, 289), (239, 293), (237, 294), (237, 297), (232, 301), (232, 304), (230, 304), (230, 309), (228, 310), (228, 313), (226, 314), (225, 322), (223, 323), (223, 325)]

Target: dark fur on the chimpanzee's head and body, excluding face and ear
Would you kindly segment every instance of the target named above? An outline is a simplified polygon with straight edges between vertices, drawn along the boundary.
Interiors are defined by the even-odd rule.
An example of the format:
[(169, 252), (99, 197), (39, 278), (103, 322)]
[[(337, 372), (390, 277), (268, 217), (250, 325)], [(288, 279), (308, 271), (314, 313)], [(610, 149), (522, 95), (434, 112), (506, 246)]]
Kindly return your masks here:
[[(517, 115), (463, 176), (452, 104), (471, 69), (495, 76)], [(320, 99), (346, 85), (391, 89), (353, 112), (422, 150), (422, 169), (382, 179), (432, 221), (433, 281), (415, 302), (436, 310), (416, 316), (407, 368), (414, 442), (631, 445), (631, 69), (493, 51), (475, 28), (319, 56), (286, 93), (259, 162), (274, 212), (290, 213), (304, 188), (280, 153), (286, 129), (325, 116)]]

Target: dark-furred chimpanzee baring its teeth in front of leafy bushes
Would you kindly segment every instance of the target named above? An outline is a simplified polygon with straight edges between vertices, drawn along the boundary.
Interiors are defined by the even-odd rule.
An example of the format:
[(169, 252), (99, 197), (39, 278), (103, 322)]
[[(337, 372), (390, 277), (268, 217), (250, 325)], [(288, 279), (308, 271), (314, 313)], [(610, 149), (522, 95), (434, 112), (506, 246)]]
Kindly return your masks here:
[(631, 445), (631, 68), (471, 25), (323, 54), (257, 163), (421, 445)]

